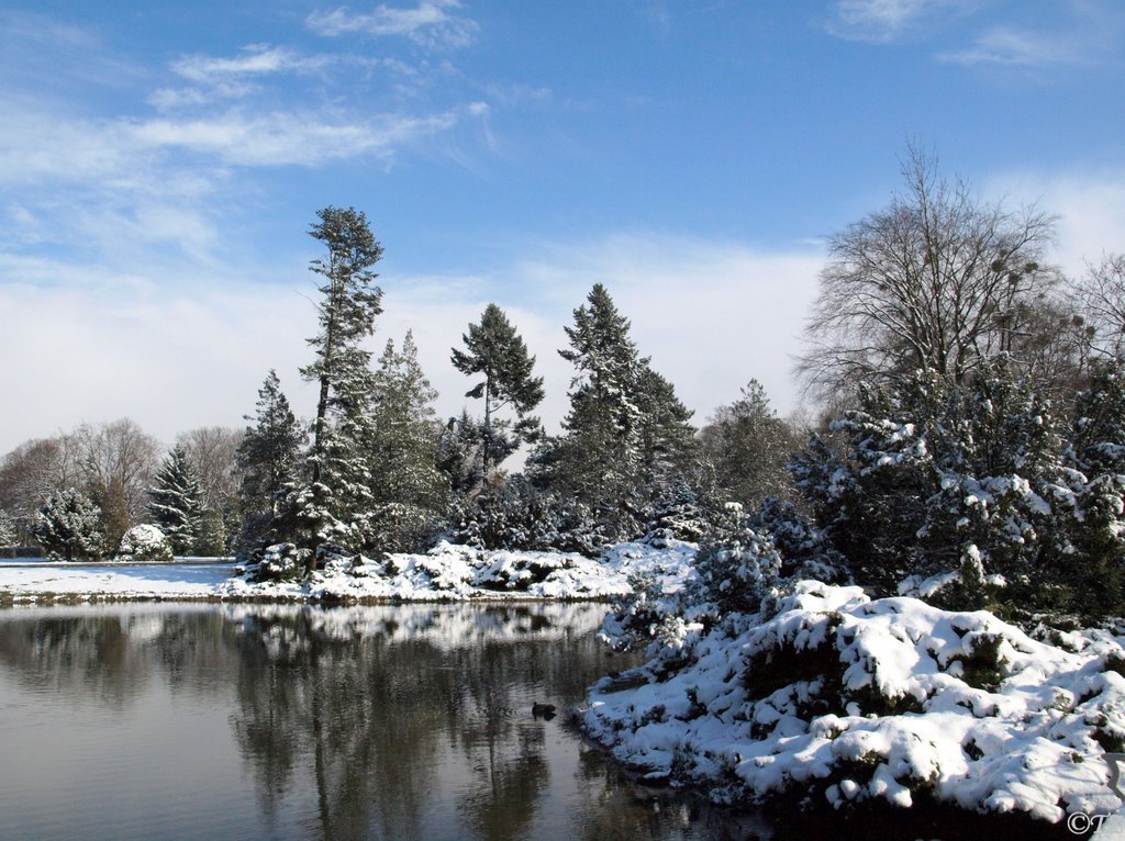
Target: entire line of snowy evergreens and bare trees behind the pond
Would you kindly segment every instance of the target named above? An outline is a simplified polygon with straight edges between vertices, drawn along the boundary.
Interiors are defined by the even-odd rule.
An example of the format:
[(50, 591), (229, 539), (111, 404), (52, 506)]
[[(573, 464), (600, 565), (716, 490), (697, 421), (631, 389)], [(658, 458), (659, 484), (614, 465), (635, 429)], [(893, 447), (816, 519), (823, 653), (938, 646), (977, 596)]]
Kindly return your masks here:
[(14, 465), (51, 445), (29, 442), (0, 463), (0, 505), (44, 541), (44, 495), (73, 487), (100, 508), (104, 552), (123, 526), (152, 523), (177, 552), (222, 543), (272, 578), (333, 560), (371, 575), (368, 560), (440, 536), (591, 554), (681, 537), (734, 564), (717, 585), (731, 597), (768, 578), (754, 567), (768, 557), (778, 575), (878, 593), (1119, 611), (1125, 259), (1068, 278), (1050, 263), (1050, 216), (983, 202), (914, 150), (903, 178), (886, 208), (830, 241), (800, 361), (824, 408), (814, 423), (778, 418), (752, 380), (698, 429), (601, 284), (565, 327), (574, 377), (558, 435), (534, 415), (536, 360), (496, 305), (451, 349), (475, 408), (440, 420), (410, 334), (378, 359), (367, 350), (382, 248), (362, 212), (330, 207), (310, 230), (325, 248), (300, 371), (317, 387), (312, 420), (270, 372), (250, 425), (228, 433), (225, 485), (184, 442), (159, 474), (150, 449), (138, 476), (151, 478), (119, 491), (82, 472), (83, 456), (14, 504)]

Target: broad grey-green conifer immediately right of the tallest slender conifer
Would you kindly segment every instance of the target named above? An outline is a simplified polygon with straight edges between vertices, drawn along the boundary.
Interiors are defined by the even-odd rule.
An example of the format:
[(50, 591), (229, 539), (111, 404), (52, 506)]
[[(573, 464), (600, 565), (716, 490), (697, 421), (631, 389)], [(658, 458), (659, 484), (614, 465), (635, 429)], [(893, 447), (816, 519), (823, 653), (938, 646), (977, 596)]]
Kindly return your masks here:
[(387, 342), (372, 386), (364, 441), (367, 544), (385, 552), (422, 549), (448, 506), (449, 480), (438, 469), (438, 392), (418, 365), (412, 333), (400, 351)]

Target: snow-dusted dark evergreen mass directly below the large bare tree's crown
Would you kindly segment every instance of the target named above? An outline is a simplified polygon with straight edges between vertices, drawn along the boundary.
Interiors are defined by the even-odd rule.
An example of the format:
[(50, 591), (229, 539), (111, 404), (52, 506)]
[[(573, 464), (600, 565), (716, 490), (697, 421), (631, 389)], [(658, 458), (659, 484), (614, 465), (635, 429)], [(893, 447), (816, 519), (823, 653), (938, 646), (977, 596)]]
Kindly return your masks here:
[(840, 454), (813, 441), (798, 485), (828, 545), (876, 593), (974, 555), (984, 573), (1030, 581), (1062, 552), (1047, 503), (1063, 480), (1061, 438), (1050, 406), (1004, 364), (971, 385), (918, 372), (865, 390), (834, 428)]

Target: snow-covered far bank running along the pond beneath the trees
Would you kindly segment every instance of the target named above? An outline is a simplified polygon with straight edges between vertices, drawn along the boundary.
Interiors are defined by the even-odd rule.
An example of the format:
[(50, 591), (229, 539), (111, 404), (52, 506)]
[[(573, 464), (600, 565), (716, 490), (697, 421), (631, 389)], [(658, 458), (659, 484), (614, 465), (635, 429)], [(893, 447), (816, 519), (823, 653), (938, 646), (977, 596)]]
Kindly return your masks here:
[(0, 595), (18, 602), (45, 594), (70, 598), (214, 598), (278, 602), (432, 602), (472, 598), (604, 599), (632, 591), (630, 578), (652, 575), (675, 590), (691, 570), (692, 543), (657, 549), (622, 543), (600, 559), (548, 552), (486, 552), (441, 543), (426, 554), (330, 564), (310, 581), (253, 584), (233, 564), (0, 564)]

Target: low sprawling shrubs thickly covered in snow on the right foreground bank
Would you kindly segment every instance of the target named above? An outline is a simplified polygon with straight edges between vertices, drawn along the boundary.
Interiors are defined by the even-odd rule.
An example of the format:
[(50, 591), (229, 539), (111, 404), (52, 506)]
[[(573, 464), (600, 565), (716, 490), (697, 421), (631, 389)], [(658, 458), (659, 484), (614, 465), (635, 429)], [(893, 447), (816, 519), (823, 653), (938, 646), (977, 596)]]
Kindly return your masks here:
[(1125, 650), (1106, 632), (1048, 636), (802, 581), (768, 615), (688, 625), (600, 681), (583, 720), (623, 762), (720, 802), (925, 793), (1051, 822), (1115, 812), (1105, 753), (1125, 745)]

